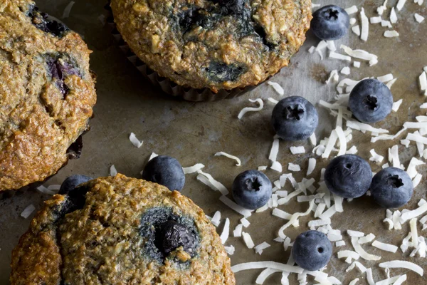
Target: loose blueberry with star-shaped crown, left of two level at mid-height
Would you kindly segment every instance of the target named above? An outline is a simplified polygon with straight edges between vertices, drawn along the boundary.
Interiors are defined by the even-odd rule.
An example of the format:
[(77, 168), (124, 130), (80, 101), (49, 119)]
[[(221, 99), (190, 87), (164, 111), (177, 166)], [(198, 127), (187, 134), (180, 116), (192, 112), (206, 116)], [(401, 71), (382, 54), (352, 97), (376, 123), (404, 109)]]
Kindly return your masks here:
[(275, 105), (271, 123), (283, 140), (307, 140), (319, 124), (319, 115), (315, 106), (305, 98), (291, 96)]

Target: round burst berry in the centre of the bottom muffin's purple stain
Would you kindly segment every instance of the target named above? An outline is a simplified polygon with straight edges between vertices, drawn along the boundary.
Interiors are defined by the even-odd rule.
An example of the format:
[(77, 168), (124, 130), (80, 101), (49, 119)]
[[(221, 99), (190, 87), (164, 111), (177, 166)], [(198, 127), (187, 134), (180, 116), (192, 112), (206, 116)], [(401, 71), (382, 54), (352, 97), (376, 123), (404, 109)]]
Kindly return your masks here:
[(168, 221), (162, 226), (161, 236), (162, 252), (166, 256), (179, 247), (191, 256), (196, 252), (197, 234), (184, 224)]

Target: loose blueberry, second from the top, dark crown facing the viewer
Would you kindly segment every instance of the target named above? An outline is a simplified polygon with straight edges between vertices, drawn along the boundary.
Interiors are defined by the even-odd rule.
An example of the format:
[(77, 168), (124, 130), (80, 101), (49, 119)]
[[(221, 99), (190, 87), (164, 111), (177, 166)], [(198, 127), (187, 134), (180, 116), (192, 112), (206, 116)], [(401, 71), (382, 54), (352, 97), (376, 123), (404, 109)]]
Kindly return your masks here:
[(376, 79), (365, 79), (354, 86), (349, 98), (354, 117), (363, 123), (384, 120), (393, 108), (390, 89)]

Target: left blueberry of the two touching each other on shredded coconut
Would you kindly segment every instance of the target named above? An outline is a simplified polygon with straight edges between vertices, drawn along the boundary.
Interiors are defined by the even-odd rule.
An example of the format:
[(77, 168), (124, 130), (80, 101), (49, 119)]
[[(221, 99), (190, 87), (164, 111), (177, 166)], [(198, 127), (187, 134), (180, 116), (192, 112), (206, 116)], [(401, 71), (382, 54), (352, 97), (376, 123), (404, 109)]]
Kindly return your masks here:
[(357, 155), (335, 157), (326, 167), (325, 183), (330, 192), (344, 198), (364, 195), (371, 185), (369, 163)]

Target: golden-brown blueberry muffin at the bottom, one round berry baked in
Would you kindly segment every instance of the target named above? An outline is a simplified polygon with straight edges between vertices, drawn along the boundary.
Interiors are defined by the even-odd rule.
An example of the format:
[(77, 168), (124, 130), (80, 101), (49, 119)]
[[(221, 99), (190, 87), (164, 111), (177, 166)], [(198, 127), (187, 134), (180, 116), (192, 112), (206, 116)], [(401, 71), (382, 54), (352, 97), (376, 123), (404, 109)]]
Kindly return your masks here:
[(11, 284), (235, 284), (204, 212), (124, 175), (46, 201), (12, 253)]

